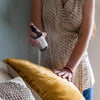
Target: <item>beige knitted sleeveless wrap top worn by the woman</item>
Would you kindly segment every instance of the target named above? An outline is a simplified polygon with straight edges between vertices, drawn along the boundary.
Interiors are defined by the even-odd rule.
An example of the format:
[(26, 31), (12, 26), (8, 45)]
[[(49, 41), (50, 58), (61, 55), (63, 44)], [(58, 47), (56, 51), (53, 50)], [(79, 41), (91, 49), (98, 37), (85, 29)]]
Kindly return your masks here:
[[(42, 0), (43, 25), (49, 48), (41, 53), (41, 65), (59, 70), (67, 64), (78, 40), (83, 7), (84, 0), (68, 0), (64, 7), (61, 0)], [(87, 50), (75, 68), (72, 82), (81, 92), (94, 84)]]

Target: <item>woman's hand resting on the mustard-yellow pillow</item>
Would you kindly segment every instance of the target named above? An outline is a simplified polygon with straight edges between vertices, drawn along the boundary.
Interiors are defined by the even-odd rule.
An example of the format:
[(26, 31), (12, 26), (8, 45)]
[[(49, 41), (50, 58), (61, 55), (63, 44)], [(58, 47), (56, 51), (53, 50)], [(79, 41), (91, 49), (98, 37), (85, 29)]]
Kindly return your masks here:
[(72, 78), (72, 72), (69, 69), (61, 69), (61, 70), (56, 70), (56, 69), (51, 69), (55, 74), (62, 78), (66, 78), (68, 81), (71, 81)]

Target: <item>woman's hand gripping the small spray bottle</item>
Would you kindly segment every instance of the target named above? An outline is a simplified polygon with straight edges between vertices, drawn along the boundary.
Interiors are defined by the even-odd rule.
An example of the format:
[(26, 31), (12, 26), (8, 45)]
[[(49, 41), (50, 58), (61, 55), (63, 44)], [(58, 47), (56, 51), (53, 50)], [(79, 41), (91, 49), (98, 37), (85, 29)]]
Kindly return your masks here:
[[(33, 25), (34, 25), (34, 24), (33, 24)], [(34, 25), (34, 27), (35, 27), (39, 32), (41, 32), (35, 25)], [(28, 33), (29, 33), (29, 41), (30, 41), (31, 45), (32, 45), (33, 47), (38, 48), (38, 47), (39, 47), (39, 42), (38, 42), (36, 39), (33, 38), (33, 37), (37, 37), (36, 33), (32, 32), (31, 29), (29, 29), (29, 32), (28, 32)], [(41, 32), (41, 34), (44, 36), (44, 38), (47, 36), (47, 33), (46, 33), (46, 32)]]

